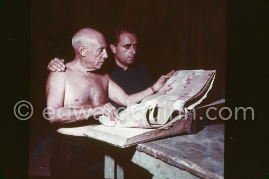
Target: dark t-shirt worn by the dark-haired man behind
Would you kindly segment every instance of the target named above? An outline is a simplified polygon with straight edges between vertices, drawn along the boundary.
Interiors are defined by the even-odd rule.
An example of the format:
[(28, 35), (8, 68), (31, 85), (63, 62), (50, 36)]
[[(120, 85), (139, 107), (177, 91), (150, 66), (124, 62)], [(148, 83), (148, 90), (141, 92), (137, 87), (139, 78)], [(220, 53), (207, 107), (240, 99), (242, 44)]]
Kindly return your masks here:
[[(115, 63), (114, 70), (111, 72), (110, 76), (127, 94), (140, 92), (154, 84), (154, 79), (147, 67), (143, 64), (138, 64), (137, 66), (124, 70)], [(111, 104), (117, 109), (121, 107), (113, 101), (111, 101)]]

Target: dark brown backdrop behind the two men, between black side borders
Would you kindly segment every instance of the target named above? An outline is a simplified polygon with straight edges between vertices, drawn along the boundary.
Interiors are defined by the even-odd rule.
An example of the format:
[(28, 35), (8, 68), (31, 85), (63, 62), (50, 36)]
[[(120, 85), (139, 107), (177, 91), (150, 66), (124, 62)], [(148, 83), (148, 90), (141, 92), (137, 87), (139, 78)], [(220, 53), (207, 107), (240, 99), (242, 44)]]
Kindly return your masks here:
[[(50, 124), (43, 119), (46, 66), (59, 57), (73, 60), (73, 35), (92, 27), (110, 39), (115, 25), (130, 26), (138, 36), (136, 60), (155, 79), (172, 69), (217, 70), (207, 100), (224, 98), (226, 2), (224, 0), (43, 0), (31, 2), (30, 175), (46, 175)], [(110, 52), (110, 49), (107, 49)], [(105, 69), (113, 66), (113, 55)], [(38, 97), (37, 97), (38, 96)], [(211, 99), (210, 99), (211, 98)], [(40, 168), (42, 167), (42, 168)]]

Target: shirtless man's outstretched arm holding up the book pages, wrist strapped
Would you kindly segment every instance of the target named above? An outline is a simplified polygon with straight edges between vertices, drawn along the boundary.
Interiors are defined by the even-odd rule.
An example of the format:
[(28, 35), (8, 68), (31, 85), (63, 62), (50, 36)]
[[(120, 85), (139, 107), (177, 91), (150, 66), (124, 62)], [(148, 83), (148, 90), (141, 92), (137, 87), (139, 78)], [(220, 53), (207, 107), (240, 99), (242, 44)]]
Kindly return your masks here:
[[(154, 90), (158, 91), (165, 84), (165, 82), (173, 75), (175, 71), (172, 70), (166, 75), (162, 75), (157, 82), (153, 85)], [(138, 103), (145, 97), (153, 94), (153, 90), (151, 88), (147, 88), (141, 92), (128, 95), (122, 90), (115, 82), (110, 80), (109, 82), (109, 98), (118, 103), (121, 106), (127, 106), (128, 103)]]

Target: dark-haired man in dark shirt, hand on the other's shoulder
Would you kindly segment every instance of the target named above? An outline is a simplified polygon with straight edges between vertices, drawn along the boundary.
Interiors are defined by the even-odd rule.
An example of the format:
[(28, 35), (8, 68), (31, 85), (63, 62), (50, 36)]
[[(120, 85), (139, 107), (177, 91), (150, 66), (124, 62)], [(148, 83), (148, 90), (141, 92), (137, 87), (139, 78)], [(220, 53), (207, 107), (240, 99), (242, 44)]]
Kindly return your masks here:
[[(114, 68), (110, 76), (127, 94), (145, 90), (154, 84), (154, 79), (146, 66), (134, 63), (137, 50), (137, 37), (134, 30), (116, 27), (110, 48), (114, 54)], [(63, 71), (66, 67), (63, 59), (54, 58), (47, 68), (51, 71)], [(111, 103), (117, 109), (121, 107), (113, 101)]]

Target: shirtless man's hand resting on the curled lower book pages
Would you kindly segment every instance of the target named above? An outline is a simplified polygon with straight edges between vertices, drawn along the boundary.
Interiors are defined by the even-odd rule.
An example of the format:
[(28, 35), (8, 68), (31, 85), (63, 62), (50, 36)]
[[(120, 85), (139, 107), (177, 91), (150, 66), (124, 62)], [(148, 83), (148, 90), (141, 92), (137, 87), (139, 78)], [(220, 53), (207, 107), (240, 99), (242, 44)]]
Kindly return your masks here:
[(97, 107), (94, 107), (94, 117), (100, 115), (106, 115), (111, 121), (120, 120), (120, 116), (114, 106), (111, 103), (106, 103)]

